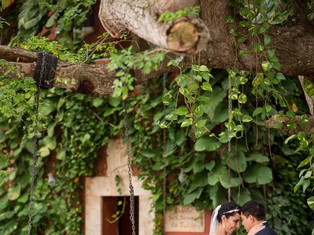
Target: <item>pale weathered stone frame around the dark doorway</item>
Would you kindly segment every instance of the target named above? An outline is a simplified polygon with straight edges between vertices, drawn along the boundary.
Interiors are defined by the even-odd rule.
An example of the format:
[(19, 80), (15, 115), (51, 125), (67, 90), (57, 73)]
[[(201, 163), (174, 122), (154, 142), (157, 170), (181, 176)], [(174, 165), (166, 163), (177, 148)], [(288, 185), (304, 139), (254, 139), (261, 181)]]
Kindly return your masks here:
[[(110, 140), (106, 148), (106, 169), (104, 176), (86, 177), (85, 179), (85, 235), (114, 235), (104, 232), (105, 220), (103, 211), (106, 203), (105, 197), (118, 198), (130, 196), (129, 175), (127, 166), (126, 146), (123, 140)], [(120, 185), (116, 185), (115, 177), (120, 177)], [(137, 235), (153, 235), (155, 213), (151, 211), (150, 191), (142, 188), (142, 182), (137, 176), (132, 176), (134, 196), (138, 200), (138, 217), (135, 223)], [(119, 192), (118, 189), (121, 188)], [(114, 199), (112, 199), (114, 200)], [(130, 201), (128, 198), (127, 201)], [(115, 203), (114, 205), (117, 205)], [(126, 209), (128, 211), (128, 209)], [(130, 210), (129, 210), (130, 211)], [(151, 211), (151, 212), (150, 212)], [(111, 214), (109, 215), (111, 216)], [(130, 220), (130, 218), (129, 218)], [(130, 235), (128, 233), (128, 235)]]

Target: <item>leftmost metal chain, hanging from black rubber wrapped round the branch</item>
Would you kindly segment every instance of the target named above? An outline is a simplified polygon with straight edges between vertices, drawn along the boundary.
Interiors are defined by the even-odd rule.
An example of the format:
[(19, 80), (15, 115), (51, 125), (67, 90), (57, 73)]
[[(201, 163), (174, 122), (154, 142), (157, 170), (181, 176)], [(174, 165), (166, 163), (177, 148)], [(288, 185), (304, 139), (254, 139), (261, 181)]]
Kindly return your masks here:
[(31, 217), (33, 211), (33, 195), (34, 195), (34, 181), (37, 174), (37, 133), (38, 133), (38, 110), (39, 110), (39, 95), (40, 87), (42, 85), (42, 80), (44, 72), (46, 71), (46, 53), (43, 52), (43, 61), (41, 65), (39, 82), (37, 84), (37, 92), (35, 93), (35, 126), (34, 126), (34, 139), (33, 139), (33, 164), (31, 167), (31, 183), (30, 183), (30, 196), (29, 196), (29, 214), (28, 214), (28, 230), (27, 235), (30, 235), (31, 231)]

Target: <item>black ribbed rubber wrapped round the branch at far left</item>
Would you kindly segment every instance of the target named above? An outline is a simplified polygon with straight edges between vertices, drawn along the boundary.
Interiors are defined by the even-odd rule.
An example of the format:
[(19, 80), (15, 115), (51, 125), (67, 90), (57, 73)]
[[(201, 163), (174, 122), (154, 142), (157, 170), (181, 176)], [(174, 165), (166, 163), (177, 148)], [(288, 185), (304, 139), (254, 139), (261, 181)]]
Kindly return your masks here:
[[(34, 80), (39, 83), (40, 71), (43, 64), (43, 52), (38, 52), (38, 58), (36, 62), (36, 70), (34, 75)], [(52, 54), (45, 53), (45, 71), (42, 80), (41, 88), (49, 89), (53, 87), (54, 84), (54, 73), (57, 68), (57, 57)]]

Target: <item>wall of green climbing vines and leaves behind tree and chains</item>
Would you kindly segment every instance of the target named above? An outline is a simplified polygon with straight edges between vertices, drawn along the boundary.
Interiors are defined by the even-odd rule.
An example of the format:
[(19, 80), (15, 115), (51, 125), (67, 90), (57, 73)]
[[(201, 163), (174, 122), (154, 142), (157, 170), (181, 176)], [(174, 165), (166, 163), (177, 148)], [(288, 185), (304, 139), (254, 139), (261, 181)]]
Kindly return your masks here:
[[(237, 3), (240, 4), (239, 2)], [(272, 2), (274, 1), (268, 2), (270, 6)], [(58, 29), (61, 33), (57, 39), (62, 46), (70, 49), (62, 49), (57, 44), (36, 38), (30, 39), (25, 47), (53, 51), (59, 58), (71, 61), (75, 56), (69, 51), (78, 52), (80, 44), (78, 35), (74, 35), (71, 29), (78, 19), (81, 20), (82, 16), (86, 15), (87, 11), (81, 10), (81, 7), (86, 6), (88, 9), (94, 1), (85, 0), (70, 4), (71, 1), (59, 0), (57, 3), (48, 3), (35, 0), (18, 2), (20, 11), (17, 35), (23, 41), (28, 39), (30, 34), (36, 35), (42, 25), (50, 26), (59, 19)], [(48, 18), (47, 12), (51, 9), (55, 10), (55, 13)], [(247, 9), (242, 9), (243, 14), (251, 14), (246, 11)], [(273, 14), (274, 12), (276, 8), (270, 7), (268, 13), (271, 13), (272, 22), (281, 24), (287, 20), (289, 8), (287, 12), (277, 11)], [(226, 21), (232, 23), (232, 18)], [(264, 26), (267, 27), (266, 24)], [(263, 29), (259, 30), (263, 33)], [(236, 37), (240, 39), (239, 35)], [(267, 42), (267, 36), (264, 37)], [(16, 37), (10, 44), (16, 44)], [(110, 53), (115, 52), (111, 46), (108, 47), (111, 48), (107, 48)], [(262, 45), (256, 46), (260, 47)], [(126, 53), (129, 53), (128, 50)], [(264, 61), (265, 71), (271, 70), (272, 67), (278, 68), (278, 64), (274, 64), (276, 56), (272, 52), (269, 53), (272, 55), (269, 57), (274, 61)], [(83, 60), (84, 56), (86, 58), (86, 55), (81, 54), (80, 59)], [(3, 68), (5, 62), (1, 61), (0, 65)], [(172, 62), (172, 65), (180, 66), (180, 60)], [(23, 76), (14, 68), (9, 68), (9, 71)], [(268, 77), (261, 78), (258, 74), (252, 77), (237, 70), (209, 70), (204, 67), (201, 69), (197, 65), (182, 72), (178, 79), (172, 78), (171, 74), (164, 75), (167, 91), (172, 91), (171, 97), (179, 97), (177, 101), (170, 98), (167, 91), (160, 89), (162, 78), (159, 77), (143, 84), (140, 88), (143, 92), (129, 97), (127, 103), (133, 160), (141, 171), (139, 177), (143, 180), (143, 188), (151, 190), (154, 195), (152, 208), (157, 215), (155, 234), (160, 234), (162, 228), (162, 180), (165, 176), (162, 173), (163, 150), (160, 142), (163, 131), (160, 129), (160, 123), (165, 121), (163, 104), (167, 104), (165, 112), (170, 115), (167, 120), (171, 121), (171, 125), (166, 129), (167, 206), (192, 204), (199, 210), (211, 210), (226, 201), (228, 138), (217, 140), (213, 136), (209, 137), (207, 133), (201, 133), (195, 142), (192, 141), (192, 125), (183, 126), (183, 122), (189, 117), (184, 116), (184, 98), (178, 96), (178, 88), (186, 89), (183, 92), (186, 98), (191, 97), (187, 96), (187, 92), (204, 96), (201, 101), (202, 112), (201, 108), (197, 111), (201, 113), (198, 121), (206, 120), (206, 128), (218, 136), (228, 131), (228, 125), (224, 124), (228, 121), (228, 78), (234, 77), (235, 81), (238, 81), (242, 76), (247, 76), (249, 81), (244, 82), (245, 86), (243, 83), (237, 88), (242, 94), (246, 94), (246, 101), (242, 99), (242, 103), (239, 103), (237, 98), (233, 103), (244, 115), (251, 115), (253, 118), (249, 122), (241, 122), (241, 118), (235, 118), (235, 121), (242, 123), (245, 133), (243, 138), (232, 139), (232, 199), (239, 204), (250, 199), (265, 203), (267, 220), (280, 235), (311, 234), (314, 227), (311, 218), (314, 212), (306, 205), (311, 188), (303, 186), (303, 191), (293, 192), (293, 187), (299, 181), (296, 168), (304, 160), (304, 155), (307, 156), (308, 149), (295, 152), (299, 141), (292, 140), (286, 144), (286, 138), (282, 134), (274, 130), (268, 131), (264, 127), (264, 120), (268, 116), (278, 114), (282, 110), (277, 99), (271, 95), (267, 97), (267, 103), (263, 97), (259, 97), (259, 115), (257, 119), (252, 115), (257, 110), (254, 95), (257, 93), (257, 90), (254, 90), (257, 89), (256, 84), (260, 82), (261, 85), (261, 81), (267, 80)], [(192, 73), (196, 81), (190, 83), (188, 79)], [(209, 74), (214, 79), (209, 77)], [(198, 75), (201, 76), (201, 81), (202, 77), (205, 80), (210, 78), (209, 81), (206, 80), (209, 85), (206, 83), (205, 86), (205, 82), (199, 85)], [(283, 80), (280, 88), (287, 103), (291, 107), (297, 106), (297, 114), (307, 113), (307, 105), (302, 101), (302, 88), (298, 85), (297, 78), (286, 80), (281, 75), (276, 77)], [(198, 90), (197, 86), (205, 89)], [(236, 88), (234, 83), (233, 86)], [(266, 86), (261, 85), (259, 89), (262, 93), (267, 91)], [(5, 75), (0, 77), (0, 169), (10, 171), (8, 176), (0, 176), (0, 234), (3, 235), (20, 235), (26, 234), (27, 231), (35, 90), (31, 79), (18, 81), (6, 79)], [(196, 110), (195, 108), (195, 113)], [(81, 234), (81, 179), (95, 175), (97, 151), (109, 138), (123, 138), (123, 102), (118, 97), (74, 94), (54, 88), (41, 94), (40, 120), (39, 171), (34, 193), (33, 232), (47, 235)], [(47, 164), (52, 156), (56, 158), (53, 167)], [(52, 168), (55, 170), (55, 182), (49, 182), (47, 177), (47, 172)], [(181, 182), (179, 177), (183, 179)], [(243, 234), (243, 231), (237, 233)]]

